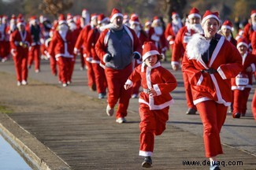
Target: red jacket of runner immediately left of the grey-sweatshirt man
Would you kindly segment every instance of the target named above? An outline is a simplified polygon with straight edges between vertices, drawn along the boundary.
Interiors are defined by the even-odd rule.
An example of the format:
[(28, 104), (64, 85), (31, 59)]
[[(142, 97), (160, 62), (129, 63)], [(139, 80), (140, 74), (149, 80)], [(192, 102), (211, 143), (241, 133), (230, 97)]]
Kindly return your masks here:
[(98, 63), (98, 64), (100, 63), (100, 59), (95, 51), (95, 45), (99, 35), (100, 35), (100, 32), (98, 31), (98, 28), (91, 29), (87, 35), (85, 50), (87, 54), (87, 60), (89, 59), (91, 63)]

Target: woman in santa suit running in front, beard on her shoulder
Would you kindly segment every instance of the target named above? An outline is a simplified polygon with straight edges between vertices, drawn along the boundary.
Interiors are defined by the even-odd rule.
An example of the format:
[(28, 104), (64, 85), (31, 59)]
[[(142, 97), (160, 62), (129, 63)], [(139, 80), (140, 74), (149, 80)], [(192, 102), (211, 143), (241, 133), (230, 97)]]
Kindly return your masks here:
[(230, 79), (242, 71), (239, 51), (217, 34), (218, 13), (206, 10), (202, 18), (204, 35), (194, 35), (187, 43), (183, 71), (191, 83), (194, 104), (203, 124), (206, 157), (210, 170), (220, 169), (217, 155), (223, 153), (220, 132), (232, 102)]

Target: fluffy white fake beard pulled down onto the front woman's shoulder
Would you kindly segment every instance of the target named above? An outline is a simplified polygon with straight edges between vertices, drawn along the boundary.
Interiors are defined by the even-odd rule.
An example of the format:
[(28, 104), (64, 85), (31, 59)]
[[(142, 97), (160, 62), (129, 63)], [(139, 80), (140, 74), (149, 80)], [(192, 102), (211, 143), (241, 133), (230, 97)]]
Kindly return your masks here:
[(204, 54), (209, 47), (210, 40), (207, 40), (204, 36), (199, 34), (192, 35), (186, 47), (188, 59), (200, 60), (202, 54)]

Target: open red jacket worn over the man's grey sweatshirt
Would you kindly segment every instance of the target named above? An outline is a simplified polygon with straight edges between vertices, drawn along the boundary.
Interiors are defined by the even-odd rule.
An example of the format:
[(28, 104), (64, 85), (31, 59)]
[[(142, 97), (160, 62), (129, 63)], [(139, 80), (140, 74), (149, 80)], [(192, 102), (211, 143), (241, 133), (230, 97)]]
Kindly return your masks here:
[[(128, 28), (125, 25), (124, 25), (124, 29), (125, 31), (127, 31), (128, 35), (132, 39), (133, 53), (142, 54), (142, 46), (139, 42), (137, 35), (135, 34), (135, 31), (133, 31), (132, 28)], [(99, 35), (98, 41), (95, 46), (96, 53), (98, 54), (98, 57), (101, 59), (101, 63), (103, 65), (104, 65), (104, 57), (106, 57), (109, 35), (110, 35), (110, 29), (106, 29), (102, 31), (102, 33)]]

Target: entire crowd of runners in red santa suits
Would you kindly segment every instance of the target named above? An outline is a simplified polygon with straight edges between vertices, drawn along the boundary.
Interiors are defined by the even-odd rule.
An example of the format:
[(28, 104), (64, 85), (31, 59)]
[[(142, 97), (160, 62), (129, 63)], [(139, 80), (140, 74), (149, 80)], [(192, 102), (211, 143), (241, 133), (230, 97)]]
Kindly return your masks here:
[[(166, 50), (172, 50), (173, 70), (183, 71), (187, 114), (200, 114), (206, 157), (210, 169), (217, 170), (216, 157), (223, 153), (219, 134), (227, 107), (232, 104), (234, 118), (247, 111), (256, 69), (256, 10), (236, 39), (231, 21), (221, 23), (218, 13), (209, 10), (201, 17), (196, 8), (190, 10), (185, 23), (173, 13), (165, 29), (158, 17), (143, 27), (137, 14), (128, 17), (118, 9), (110, 17), (90, 15), (86, 9), (81, 16), (68, 14), (65, 19), (60, 15), (53, 26), (44, 17), (39, 22), (31, 17), (25, 24), (22, 15), (9, 22), (3, 16), (0, 46), (2, 61), (9, 53), (13, 56), (17, 86), (28, 84), (33, 61), (35, 72), (40, 72), (42, 54), (50, 59), (52, 74), (67, 87), (72, 83), (76, 56), (80, 56), (81, 69), (87, 68), (88, 87), (98, 92), (98, 98), (107, 94), (107, 115), (113, 116), (118, 105), (117, 123), (127, 121), (129, 99), (139, 98), (139, 155), (145, 157), (144, 168), (152, 165), (154, 135), (165, 131), (173, 104), (169, 93), (177, 86), (176, 78), (161, 66)], [(143, 89), (140, 93), (139, 87)], [(256, 113), (256, 95), (252, 110)]]

